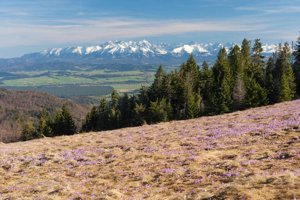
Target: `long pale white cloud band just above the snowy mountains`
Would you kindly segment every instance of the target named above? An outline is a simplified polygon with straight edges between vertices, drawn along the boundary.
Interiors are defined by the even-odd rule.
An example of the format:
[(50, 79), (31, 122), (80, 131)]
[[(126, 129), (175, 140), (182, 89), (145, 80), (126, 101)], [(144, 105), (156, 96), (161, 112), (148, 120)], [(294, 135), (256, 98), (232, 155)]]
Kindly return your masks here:
[[(48, 21), (47, 21), (48, 22)], [(102, 17), (93, 19), (56, 20), (63, 25), (44, 25), (26, 21), (8, 20), (0, 24), (0, 46), (33, 45), (62, 42), (99, 42), (111, 38), (134, 38), (197, 31), (253, 31), (264, 29), (237, 20), (149, 20), (129, 17)], [(71, 24), (73, 23), (73, 24)]]

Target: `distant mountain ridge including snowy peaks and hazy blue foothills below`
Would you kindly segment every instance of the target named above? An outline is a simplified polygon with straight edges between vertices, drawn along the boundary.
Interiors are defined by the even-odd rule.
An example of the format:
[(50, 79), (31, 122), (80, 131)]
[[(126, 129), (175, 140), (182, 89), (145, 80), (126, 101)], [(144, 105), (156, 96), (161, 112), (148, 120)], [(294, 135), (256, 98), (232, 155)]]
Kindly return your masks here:
[[(157, 43), (147, 40), (107, 41), (95, 46), (53, 47), (40, 52), (24, 54), (21, 57), (0, 59), (0, 71), (18, 70), (81, 70), (81, 68), (110, 68), (127, 70), (128, 67), (148, 66), (153, 68), (162, 65), (179, 65), (193, 53), (197, 63), (204, 60), (213, 65), (222, 47), (229, 52), (235, 42), (221, 43)], [(240, 44), (237, 44), (240, 46)], [(262, 54), (271, 56), (275, 44), (262, 44)], [(120, 65), (115, 68), (112, 65)]]

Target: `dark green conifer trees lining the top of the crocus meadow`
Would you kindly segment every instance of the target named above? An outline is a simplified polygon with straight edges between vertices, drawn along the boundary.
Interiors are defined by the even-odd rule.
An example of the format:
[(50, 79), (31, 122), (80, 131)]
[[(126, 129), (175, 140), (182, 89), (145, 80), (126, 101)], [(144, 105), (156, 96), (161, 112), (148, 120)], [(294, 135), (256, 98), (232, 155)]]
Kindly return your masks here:
[[(243, 39), (226, 52), (220, 49), (212, 67), (197, 65), (190, 54), (178, 70), (165, 73), (160, 65), (153, 83), (139, 93), (102, 98), (83, 121), (81, 132), (191, 119), (289, 101), (300, 95), (300, 37), (295, 46), (279, 43), (267, 59), (260, 39)], [(26, 124), (27, 129), (32, 129)], [(27, 129), (26, 129), (27, 128)], [(33, 129), (32, 129), (33, 131)], [(62, 107), (55, 118), (43, 111), (35, 137), (77, 132), (70, 111)], [(24, 136), (23, 136), (24, 137)], [(25, 138), (26, 139), (26, 138)]]

